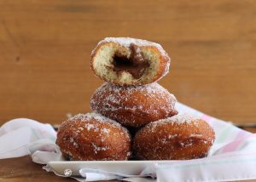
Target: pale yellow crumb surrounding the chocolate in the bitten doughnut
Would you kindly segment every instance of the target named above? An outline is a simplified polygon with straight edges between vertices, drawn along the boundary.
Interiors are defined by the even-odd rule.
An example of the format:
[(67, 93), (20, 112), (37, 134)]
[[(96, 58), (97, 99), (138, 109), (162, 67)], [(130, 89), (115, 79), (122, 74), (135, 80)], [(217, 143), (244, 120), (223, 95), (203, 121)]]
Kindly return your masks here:
[[(143, 76), (135, 78), (127, 71), (113, 71), (113, 64), (132, 66), (127, 60), (131, 56), (131, 49), (120, 45), (119, 43), (103, 43), (96, 50), (94, 60), (92, 61), (93, 69), (99, 77), (107, 78), (108, 82), (125, 82), (132, 84), (134, 82), (150, 82), (158, 73), (160, 64), (160, 53), (156, 48), (150, 46), (140, 47), (142, 56), (148, 61), (148, 67), (144, 70)], [(120, 59), (114, 60), (114, 58)], [(125, 60), (124, 58), (127, 58)], [(123, 62), (122, 62), (123, 61)]]

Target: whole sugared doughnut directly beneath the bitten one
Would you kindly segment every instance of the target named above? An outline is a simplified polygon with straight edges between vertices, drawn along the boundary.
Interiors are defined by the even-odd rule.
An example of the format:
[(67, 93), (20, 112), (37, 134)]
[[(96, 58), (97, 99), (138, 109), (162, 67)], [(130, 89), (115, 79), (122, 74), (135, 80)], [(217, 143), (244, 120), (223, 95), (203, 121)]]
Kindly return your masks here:
[(92, 95), (90, 107), (126, 127), (141, 127), (177, 114), (176, 98), (157, 82), (141, 86), (105, 83)]

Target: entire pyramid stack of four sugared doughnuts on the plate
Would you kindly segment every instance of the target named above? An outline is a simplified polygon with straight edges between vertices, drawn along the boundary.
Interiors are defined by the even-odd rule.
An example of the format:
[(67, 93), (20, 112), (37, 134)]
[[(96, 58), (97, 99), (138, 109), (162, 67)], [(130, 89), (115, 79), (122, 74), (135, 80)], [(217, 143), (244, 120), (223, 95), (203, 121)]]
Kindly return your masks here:
[(61, 124), (56, 144), (69, 160), (185, 160), (205, 157), (215, 134), (201, 118), (178, 114), (175, 96), (157, 83), (171, 59), (158, 43), (107, 37), (92, 51), (91, 70), (105, 83), (92, 112)]

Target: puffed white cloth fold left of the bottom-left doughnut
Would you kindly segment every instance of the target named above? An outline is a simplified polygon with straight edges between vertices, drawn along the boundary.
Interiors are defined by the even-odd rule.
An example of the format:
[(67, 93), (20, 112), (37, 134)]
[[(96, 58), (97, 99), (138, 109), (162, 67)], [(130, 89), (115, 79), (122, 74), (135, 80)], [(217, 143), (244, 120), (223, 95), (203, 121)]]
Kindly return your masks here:
[(26, 156), (31, 154), (29, 145), (41, 142), (42, 150), (49, 151), (49, 142), (55, 143), (56, 132), (49, 124), (32, 119), (14, 119), (0, 128), (0, 159)]

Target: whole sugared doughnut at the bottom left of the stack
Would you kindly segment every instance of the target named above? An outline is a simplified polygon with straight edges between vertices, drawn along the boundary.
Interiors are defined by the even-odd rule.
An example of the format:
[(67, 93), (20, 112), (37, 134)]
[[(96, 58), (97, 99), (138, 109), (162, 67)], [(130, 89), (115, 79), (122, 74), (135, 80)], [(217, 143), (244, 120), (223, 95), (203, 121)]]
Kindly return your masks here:
[(70, 160), (113, 161), (131, 156), (127, 129), (97, 113), (79, 114), (63, 122), (56, 144)]

